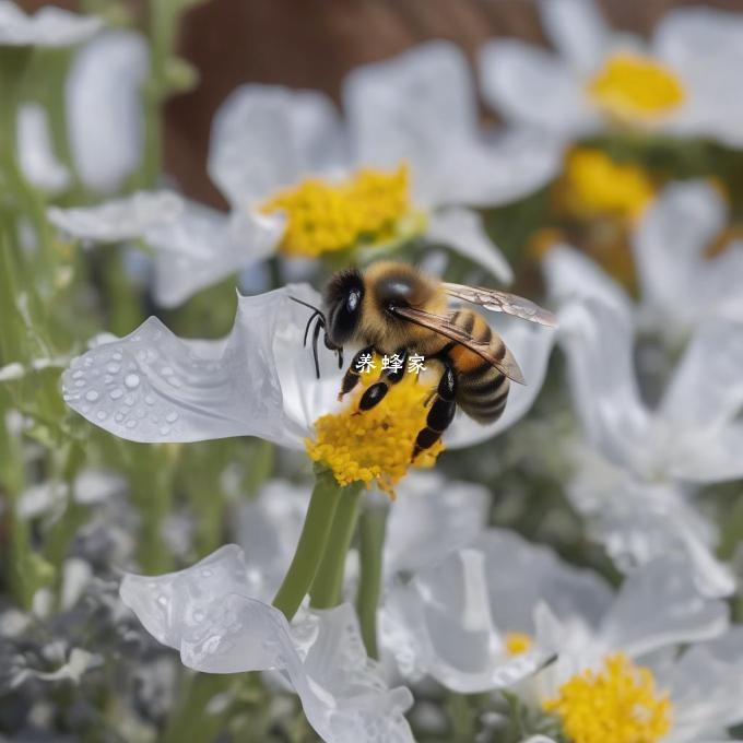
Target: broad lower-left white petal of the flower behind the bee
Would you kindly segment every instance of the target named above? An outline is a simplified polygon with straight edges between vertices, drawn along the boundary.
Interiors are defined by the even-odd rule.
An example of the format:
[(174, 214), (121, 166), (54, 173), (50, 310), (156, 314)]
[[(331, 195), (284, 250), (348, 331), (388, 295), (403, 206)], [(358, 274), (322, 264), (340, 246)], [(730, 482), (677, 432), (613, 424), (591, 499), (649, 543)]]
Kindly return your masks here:
[(202, 288), (270, 256), (283, 221), (249, 212), (225, 215), (192, 201), (175, 221), (148, 231), (156, 250), (154, 294), (158, 305), (175, 307)]

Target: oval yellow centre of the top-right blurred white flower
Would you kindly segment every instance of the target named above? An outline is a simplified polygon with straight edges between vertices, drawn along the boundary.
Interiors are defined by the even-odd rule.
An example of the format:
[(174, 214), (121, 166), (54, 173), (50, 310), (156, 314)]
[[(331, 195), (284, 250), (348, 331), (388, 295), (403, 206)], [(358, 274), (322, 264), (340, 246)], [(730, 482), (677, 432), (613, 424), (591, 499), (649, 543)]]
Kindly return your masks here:
[(604, 111), (629, 122), (662, 117), (685, 98), (671, 70), (651, 57), (629, 52), (611, 55), (588, 92)]

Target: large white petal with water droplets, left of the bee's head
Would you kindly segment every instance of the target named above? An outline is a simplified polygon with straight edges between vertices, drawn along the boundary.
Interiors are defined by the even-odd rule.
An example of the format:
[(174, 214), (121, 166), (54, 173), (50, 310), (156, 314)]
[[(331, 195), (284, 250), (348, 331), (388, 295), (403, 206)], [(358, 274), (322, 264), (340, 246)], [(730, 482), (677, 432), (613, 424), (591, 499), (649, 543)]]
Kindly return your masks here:
[(290, 293), (317, 304), (303, 286), (239, 297), (233, 330), (221, 341), (181, 340), (151, 317), (75, 359), (62, 378), (66, 401), (134, 441), (260, 436), (299, 448), (315, 418), (297, 421), (285, 410), (284, 379), (298, 373), (280, 370), (281, 359), (300, 368), (303, 392), (314, 380), (302, 347), (304, 315)]

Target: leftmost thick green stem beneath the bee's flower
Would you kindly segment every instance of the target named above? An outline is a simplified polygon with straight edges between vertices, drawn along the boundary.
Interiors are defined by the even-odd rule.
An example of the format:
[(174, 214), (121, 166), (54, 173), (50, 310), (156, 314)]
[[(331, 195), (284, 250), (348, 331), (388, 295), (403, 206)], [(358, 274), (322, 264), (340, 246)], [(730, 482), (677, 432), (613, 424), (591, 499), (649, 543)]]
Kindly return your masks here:
[(315, 472), (315, 490), (309, 499), (299, 542), (281, 588), (273, 599), (273, 605), (290, 622), (315, 580), (330, 536), (333, 516), (343, 494), (343, 488), (335, 482), (330, 470), (317, 465)]

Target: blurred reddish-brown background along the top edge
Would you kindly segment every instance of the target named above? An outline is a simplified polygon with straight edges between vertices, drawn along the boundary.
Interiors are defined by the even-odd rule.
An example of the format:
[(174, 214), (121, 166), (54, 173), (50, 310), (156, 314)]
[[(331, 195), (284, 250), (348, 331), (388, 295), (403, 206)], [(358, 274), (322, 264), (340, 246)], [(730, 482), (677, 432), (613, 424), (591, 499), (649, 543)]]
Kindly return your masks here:
[[(158, 2), (160, 0), (152, 0)], [(598, 0), (618, 28), (648, 34), (669, 9), (705, 5), (743, 11), (742, 0)], [(20, 2), (27, 11), (75, 0)], [(144, 0), (128, 3), (142, 16)], [(544, 43), (535, 0), (207, 0), (185, 17), (180, 54), (200, 85), (166, 111), (166, 169), (191, 197), (224, 205), (205, 174), (209, 128), (220, 103), (245, 82), (314, 87), (338, 99), (343, 75), (431, 38), (470, 57), (486, 39), (516, 36)]]

